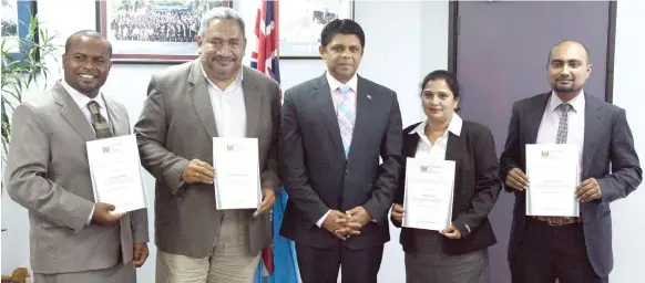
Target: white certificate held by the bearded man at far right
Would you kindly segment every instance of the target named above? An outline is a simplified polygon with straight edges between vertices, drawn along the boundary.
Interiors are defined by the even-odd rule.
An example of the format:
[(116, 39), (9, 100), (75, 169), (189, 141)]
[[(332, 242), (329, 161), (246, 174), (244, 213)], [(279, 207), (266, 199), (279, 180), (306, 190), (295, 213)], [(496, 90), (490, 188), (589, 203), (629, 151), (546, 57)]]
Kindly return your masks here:
[(579, 217), (579, 150), (573, 144), (526, 145), (526, 216)]

